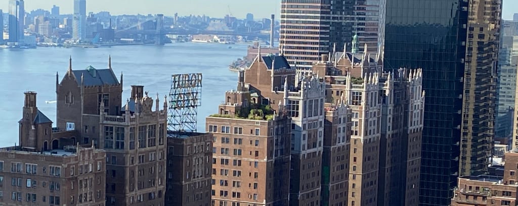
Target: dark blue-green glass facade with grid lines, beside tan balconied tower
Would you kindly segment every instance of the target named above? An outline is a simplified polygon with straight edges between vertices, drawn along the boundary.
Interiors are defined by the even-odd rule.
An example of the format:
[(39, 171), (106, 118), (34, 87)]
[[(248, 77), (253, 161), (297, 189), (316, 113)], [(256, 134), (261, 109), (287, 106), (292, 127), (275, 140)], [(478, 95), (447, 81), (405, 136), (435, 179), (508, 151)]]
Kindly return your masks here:
[(421, 205), (448, 205), (456, 185), (468, 20), (460, 8), (467, 6), (463, 0), (386, 2), (385, 69), (423, 69)]

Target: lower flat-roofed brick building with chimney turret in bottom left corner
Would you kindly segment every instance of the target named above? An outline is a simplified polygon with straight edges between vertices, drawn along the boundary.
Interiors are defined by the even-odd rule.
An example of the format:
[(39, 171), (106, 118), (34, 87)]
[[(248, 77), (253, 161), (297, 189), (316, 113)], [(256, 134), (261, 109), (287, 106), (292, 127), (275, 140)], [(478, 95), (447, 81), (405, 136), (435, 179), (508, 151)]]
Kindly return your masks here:
[[(0, 205), (105, 205), (106, 153), (52, 129), (26, 92), (19, 146), (0, 149)], [(52, 145), (48, 145), (52, 142)]]

